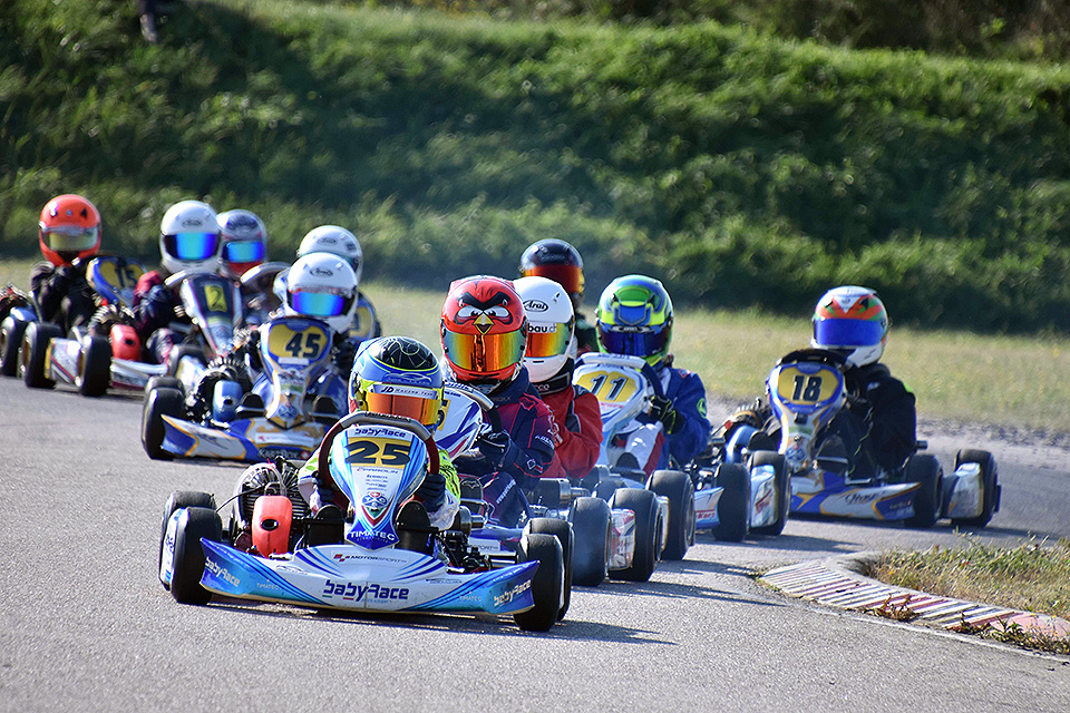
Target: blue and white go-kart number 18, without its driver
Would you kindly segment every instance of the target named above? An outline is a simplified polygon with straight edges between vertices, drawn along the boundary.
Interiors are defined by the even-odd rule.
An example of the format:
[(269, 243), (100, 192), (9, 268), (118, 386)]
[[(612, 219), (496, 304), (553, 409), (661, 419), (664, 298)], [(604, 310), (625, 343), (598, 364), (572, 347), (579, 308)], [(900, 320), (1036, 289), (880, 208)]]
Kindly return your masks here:
[[(940, 518), (964, 527), (988, 525), (1001, 495), (995, 459), (988, 451), (960, 450), (954, 471), (944, 473), (935, 456), (918, 452), (926, 443), (917, 441), (899, 469), (847, 473), (844, 455), (824, 448), (823, 439), (828, 423), (854, 398), (843, 371), (836, 352), (802, 349), (782, 356), (766, 381), (780, 426), (776, 446), (790, 477), (791, 512), (902, 520), (909, 527), (932, 527)], [(756, 431), (738, 427), (727, 450), (739, 452)], [(763, 456), (762, 462), (771, 460)]]

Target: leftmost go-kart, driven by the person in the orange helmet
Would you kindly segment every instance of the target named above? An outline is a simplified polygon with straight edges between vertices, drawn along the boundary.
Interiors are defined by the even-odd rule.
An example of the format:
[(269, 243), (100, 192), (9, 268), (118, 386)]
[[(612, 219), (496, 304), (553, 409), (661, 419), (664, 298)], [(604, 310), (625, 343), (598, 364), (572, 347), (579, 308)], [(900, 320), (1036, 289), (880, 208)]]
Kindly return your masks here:
[(23, 326), (18, 371), (26, 385), (51, 389), (61, 383), (82, 395), (104, 395), (115, 383), (113, 359), (140, 356), (130, 305), (144, 272), (139, 263), (115, 255), (89, 261), (86, 281), (96, 293), (96, 313), (88, 326), (77, 326), (66, 338), (56, 324), (35, 321)]

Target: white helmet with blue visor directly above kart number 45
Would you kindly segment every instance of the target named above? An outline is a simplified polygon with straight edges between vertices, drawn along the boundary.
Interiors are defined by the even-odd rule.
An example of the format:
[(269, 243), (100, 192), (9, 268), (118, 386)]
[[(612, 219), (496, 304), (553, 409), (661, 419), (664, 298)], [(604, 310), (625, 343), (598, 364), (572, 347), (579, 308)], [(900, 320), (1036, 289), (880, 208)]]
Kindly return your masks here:
[(335, 332), (348, 332), (357, 312), (357, 275), (338, 255), (299, 257), (286, 277), (283, 310), (288, 316), (310, 316)]

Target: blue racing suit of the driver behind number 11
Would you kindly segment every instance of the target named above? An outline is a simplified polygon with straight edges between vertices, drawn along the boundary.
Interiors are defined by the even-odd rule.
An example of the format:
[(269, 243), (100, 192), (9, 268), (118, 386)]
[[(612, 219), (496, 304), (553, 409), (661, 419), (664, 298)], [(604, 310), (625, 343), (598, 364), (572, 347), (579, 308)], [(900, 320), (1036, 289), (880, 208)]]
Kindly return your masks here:
[(692, 371), (674, 369), (672, 354), (654, 371), (664, 398), (654, 398), (651, 410), (636, 417), (639, 428), (617, 436), (606, 449), (611, 463), (620, 462), (621, 452), (630, 453), (648, 475), (669, 468), (670, 458), (681, 466), (691, 462), (706, 448), (710, 433), (702, 379)]

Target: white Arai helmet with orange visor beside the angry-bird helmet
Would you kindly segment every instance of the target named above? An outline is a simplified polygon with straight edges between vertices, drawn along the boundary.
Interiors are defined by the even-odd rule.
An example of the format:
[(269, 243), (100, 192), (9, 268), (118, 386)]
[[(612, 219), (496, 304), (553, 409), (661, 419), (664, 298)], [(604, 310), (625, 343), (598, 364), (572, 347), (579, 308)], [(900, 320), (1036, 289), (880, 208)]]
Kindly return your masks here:
[(568, 293), (548, 277), (521, 277), (513, 281), (527, 315), (527, 345), (524, 365), (532, 382), (557, 375), (575, 354), (576, 313)]

